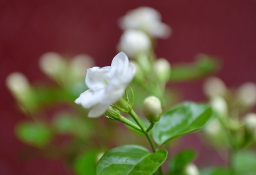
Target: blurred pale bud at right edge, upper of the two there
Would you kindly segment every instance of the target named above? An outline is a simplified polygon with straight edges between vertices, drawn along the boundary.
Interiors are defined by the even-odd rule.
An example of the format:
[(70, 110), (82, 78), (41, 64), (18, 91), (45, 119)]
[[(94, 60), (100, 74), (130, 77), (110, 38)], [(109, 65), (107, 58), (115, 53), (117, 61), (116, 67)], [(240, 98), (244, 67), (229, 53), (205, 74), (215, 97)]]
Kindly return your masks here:
[(256, 85), (255, 83), (245, 83), (237, 90), (237, 98), (242, 105), (253, 106), (256, 104)]

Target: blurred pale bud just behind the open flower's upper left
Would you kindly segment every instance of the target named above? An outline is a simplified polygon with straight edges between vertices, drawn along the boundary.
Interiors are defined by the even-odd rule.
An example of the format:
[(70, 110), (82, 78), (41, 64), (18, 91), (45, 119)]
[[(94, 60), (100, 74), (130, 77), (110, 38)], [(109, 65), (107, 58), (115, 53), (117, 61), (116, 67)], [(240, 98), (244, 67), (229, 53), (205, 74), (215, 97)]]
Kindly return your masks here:
[(85, 54), (76, 55), (70, 61), (70, 70), (75, 77), (84, 78), (88, 68), (95, 65), (92, 57)]

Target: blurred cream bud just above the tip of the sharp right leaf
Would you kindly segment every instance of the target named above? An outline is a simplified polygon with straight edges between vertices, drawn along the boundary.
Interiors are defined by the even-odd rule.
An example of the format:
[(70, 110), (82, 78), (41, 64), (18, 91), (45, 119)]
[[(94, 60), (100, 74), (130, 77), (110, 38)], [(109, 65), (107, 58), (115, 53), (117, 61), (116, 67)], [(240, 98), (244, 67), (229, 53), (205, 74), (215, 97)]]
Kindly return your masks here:
[(215, 96), (211, 99), (211, 107), (219, 117), (227, 117), (228, 116), (228, 105), (226, 101), (220, 97), (220, 96)]

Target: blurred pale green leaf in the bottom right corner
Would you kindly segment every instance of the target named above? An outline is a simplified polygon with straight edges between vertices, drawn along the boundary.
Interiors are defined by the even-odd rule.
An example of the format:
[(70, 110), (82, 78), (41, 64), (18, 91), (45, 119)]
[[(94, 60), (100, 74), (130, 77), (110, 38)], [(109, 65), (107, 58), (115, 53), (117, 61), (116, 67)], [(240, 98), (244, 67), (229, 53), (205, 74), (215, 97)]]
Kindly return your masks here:
[(233, 157), (233, 167), (237, 175), (256, 174), (256, 153), (253, 151), (239, 151)]

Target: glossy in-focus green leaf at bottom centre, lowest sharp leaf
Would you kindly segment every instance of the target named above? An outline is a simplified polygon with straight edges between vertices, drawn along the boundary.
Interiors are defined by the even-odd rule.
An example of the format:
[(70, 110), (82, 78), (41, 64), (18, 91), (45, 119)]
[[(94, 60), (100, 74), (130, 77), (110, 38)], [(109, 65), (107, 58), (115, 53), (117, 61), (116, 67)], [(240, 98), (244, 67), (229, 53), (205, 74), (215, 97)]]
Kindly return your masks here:
[(164, 149), (150, 153), (142, 146), (115, 147), (99, 160), (96, 175), (152, 175), (166, 158)]

